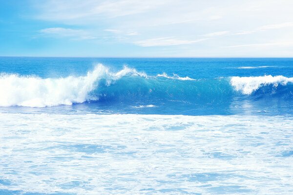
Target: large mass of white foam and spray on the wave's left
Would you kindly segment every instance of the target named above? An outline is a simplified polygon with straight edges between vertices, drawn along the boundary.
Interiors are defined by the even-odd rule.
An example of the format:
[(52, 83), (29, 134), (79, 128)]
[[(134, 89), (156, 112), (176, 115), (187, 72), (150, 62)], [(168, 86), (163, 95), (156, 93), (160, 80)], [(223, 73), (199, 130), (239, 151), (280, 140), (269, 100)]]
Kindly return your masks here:
[(1, 74), (0, 106), (45, 107), (96, 100), (88, 93), (97, 87), (97, 80), (104, 78), (110, 85), (113, 80), (126, 75), (146, 77), (146, 74), (128, 67), (116, 73), (110, 72), (102, 64), (84, 77), (38, 78)]

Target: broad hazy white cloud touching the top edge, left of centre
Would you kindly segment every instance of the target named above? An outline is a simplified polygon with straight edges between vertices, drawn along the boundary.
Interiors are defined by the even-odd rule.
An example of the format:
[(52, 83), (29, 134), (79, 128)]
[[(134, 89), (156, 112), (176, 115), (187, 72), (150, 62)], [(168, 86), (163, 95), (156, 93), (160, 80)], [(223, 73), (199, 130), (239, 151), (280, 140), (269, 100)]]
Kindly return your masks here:
[(145, 13), (167, 4), (168, 0), (45, 0), (37, 4), (44, 20), (97, 20)]

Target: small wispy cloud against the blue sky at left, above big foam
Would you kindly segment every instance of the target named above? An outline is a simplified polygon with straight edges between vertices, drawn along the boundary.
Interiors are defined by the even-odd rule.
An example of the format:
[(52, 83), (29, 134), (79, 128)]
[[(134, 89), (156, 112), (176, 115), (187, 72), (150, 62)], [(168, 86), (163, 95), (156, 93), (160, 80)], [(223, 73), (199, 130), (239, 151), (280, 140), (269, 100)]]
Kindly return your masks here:
[(71, 28), (45, 28), (39, 31), (42, 34), (54, 36), (54, 37), (69, 37), (73, 39), (96, 39), (84, 30), (76, 30)]

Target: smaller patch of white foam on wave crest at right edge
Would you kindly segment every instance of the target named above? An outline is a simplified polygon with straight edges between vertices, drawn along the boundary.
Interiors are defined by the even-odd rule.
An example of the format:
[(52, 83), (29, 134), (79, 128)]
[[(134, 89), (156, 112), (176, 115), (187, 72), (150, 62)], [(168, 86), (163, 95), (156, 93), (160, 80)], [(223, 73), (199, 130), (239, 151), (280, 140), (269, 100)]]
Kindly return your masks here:
[(293, 82), (293, 78), (284, 76), (262, 76), (262, 77), (232, 77), (230, 84), (236, 91), (240, 91), (245, 95), (250, 95), (253, 91), (262, 86), (272, 84), (273, 86), (286, 85), (288, 82)]

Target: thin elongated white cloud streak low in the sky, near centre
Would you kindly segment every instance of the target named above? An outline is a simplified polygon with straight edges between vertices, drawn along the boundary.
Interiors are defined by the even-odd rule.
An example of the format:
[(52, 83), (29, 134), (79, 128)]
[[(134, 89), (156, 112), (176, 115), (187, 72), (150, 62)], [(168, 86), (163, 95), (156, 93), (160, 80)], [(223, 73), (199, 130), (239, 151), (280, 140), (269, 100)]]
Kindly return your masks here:
[(207, 39), (209, 38), (196, 39), (196, 40), (180, 40), (180, 39), (173, 39), (172, 37), (163, 37), (163, 38), (135, 41), (134, 44), (142, 46), (142, 47), (169, 46), (169, 45), (191, 44), (191, 43), (204, 41)]

